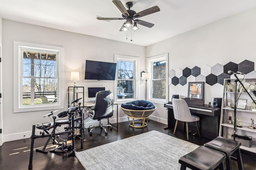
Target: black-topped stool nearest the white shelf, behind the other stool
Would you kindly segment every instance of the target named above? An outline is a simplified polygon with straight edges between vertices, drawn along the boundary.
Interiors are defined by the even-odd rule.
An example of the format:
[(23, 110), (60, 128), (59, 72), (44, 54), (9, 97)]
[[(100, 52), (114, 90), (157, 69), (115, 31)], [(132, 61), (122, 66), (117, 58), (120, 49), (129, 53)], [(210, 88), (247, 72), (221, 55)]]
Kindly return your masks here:
[(242, 156), (240, 151), (241, 143), (232, 139), (224, 137), (216, 137), (212, 141), (205, 143), (204, 146), (210, 147), (226, 154), (226, 170), (232, 170), (231, 168), (231, 156), (236, 153), (236, 161), (238, 163), (238, 170), (244, 170)]

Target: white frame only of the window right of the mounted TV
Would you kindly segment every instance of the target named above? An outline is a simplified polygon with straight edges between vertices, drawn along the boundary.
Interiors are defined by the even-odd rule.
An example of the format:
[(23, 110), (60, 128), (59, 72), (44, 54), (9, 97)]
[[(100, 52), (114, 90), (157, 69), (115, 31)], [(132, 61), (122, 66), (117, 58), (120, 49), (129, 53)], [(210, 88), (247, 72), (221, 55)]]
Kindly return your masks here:
[[(140, 90), (138, 88), (138, 78), (140, 77), (138, 70), (140, 70), (140, 57), (131, 57), (131, 56), (125, 56), (125, 55), (114, 55), (115, 63), (117, 61), (128, 61), (128, 62), (134, 62), (134, 98), (128, 98), (128, 99), (117, 99), (115, 97), (115, 102), (118, 103), (126, 103), (133, 100), (138, 100), (138, 94), (140, 94)], [(118, 68), (116, 67), (116, 78), (114, 83), (114, 96), (117, 95), (117, 76), (118, 75)]]

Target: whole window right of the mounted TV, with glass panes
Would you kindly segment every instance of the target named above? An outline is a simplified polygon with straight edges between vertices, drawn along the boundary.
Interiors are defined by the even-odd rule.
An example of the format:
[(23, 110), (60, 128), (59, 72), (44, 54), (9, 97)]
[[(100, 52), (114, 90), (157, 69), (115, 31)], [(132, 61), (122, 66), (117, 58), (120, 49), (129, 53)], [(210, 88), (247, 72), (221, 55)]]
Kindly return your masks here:
[(131, 100), (138, 98), (138, 58), (115, 55), (117, 78), (117, 100)]

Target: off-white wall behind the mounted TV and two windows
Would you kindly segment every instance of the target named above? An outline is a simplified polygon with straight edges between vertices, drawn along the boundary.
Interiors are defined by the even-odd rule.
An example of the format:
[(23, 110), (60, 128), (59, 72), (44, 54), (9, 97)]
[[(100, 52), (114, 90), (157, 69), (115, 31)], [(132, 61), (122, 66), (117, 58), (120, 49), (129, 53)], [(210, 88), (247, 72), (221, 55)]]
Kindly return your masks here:
[[(70, 72), (79, 71), (80, 81), (76, 83), (77, 86), (84, 86), (85, 90), (88, 86), (105, 86), (106, 89), (114, 91), (114, 81), (84, 80), (86, 60), (114, 62), (114, 54), (135, 56), (140, 57), (140, 60), (142, 61), (140, 62), (141, 70), (139, 70), (139, 72), (146, 68), (144, 62), (145, 47), (143, 46), (10, 20), (3, 20), (2, 31), (2, 44), (4, 47), (2, 49), (2, 70), (4, 73), (2, 77), (4, 82), (2, 86), (3, 142), (30, 137), (32, 125), (48, 122), (48, 117), (42, 116), (50, 112), (37, 111), (13, 113), (13, 86), (17, 85), (17, 82), (14, 82), (13, 80), (13, 41), (63, 46), (65, 54), (65, 76), (62, 78), (65, 79), (65, 84), (63, 84), (63, 86), (65, 86), (66, 90), (68, 90), (68, 86), (73, 86), (73, 82), (70, 81)], [(142, 88), (140, 89), (140, 92), (145, 91), (144, 86), (140, 86), (140, 88)], [(64, 95), (66, 97), (64, 106), (68, 107), (68, 92)], [(144, 96), (145, 94), (142, 93), (142, 98)], [(85, 99), (87, 99), (86, 93)], [(64, 109), (59, 111), (64, 111)], [(125, 117), (125, 120), (127, 119), (121, 109), (119, 109), (118, 112), (120, 113), (120, 115), (118, 115), (119, 119), (122, 117)], [(116, 113), (114, 115), (116, 115)]]

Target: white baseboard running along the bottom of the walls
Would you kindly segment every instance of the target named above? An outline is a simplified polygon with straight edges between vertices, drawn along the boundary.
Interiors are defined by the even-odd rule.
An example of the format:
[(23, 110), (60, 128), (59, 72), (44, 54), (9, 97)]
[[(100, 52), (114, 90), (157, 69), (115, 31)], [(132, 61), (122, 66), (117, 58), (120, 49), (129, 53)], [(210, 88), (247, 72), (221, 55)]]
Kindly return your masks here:
[[(155, 117), (155, 116), (152, 116), (152, 115), (150, 115), (149, 119), (160, 122), (160, 123), (164, 123), (164, 124), (167, 125), (167, 120), (166, 119), (162, 119), (160, 117)], [(128, 121), (127, 116), (118, 117), (118, 123), (124, 122), (124, 121)], [(102, 120), (102, 124), (107, 124), (107, 122), (108, 122), (107, 119)], [(116, 123), (116, 118), (109, 119), (109, 122), (110, 123)], [(98, 124), (98, 121), (94, 120), (94, 121), (90, 121), (90, 122), (85, 123), (84, 127), (88, 128), (90, 125), (97, 125), (97, 124)], [(59, 127), (58, 129), (60, 129), (60, 131), (64, 131), (64, 127), (66, 127), (66, 126)], [(35, 134), (39, 135), (40, 131), (41, 130), (36, 129)], [(20, 139), (27, 139), (27, 138), (30, 138), (31, 135), (32, 135), (32, 129), (31, 129), (31, 131), (28, 131), (28, 132), (14, 133), (14, 134), (10, 134), (10, 135), (3, 135), (2, 136), (2, 143), (9, 142), (9, 141), (16, 141), (16, 140), (20, 140)]]

